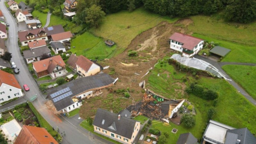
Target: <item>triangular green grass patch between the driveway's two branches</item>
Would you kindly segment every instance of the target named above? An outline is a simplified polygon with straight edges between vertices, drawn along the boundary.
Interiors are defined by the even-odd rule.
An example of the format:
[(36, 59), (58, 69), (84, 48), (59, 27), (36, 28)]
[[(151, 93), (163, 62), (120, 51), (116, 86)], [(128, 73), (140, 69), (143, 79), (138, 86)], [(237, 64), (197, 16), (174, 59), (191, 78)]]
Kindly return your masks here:
[(256, 99), (256, 66), (225, 65), (222, 68), (239, 83), (249, 95)]

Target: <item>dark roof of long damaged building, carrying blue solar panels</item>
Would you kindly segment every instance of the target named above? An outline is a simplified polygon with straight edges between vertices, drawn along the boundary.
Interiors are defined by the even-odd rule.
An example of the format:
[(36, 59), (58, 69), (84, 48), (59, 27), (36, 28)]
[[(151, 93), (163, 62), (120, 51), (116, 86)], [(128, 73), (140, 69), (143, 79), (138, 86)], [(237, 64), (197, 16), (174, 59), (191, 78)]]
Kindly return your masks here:
[(99, 88), (102, 86), (107, 86), (114, 82), (114, 79), (110, 77), (108, 74), (98, 74), (94, 76), (86, 76), (82, 78), (78, 78), (76, 80), (70, 81), (68, 83), (65, 83), (63, 85), (60, 85), (56, 88), (53, 88), (48, 91), (48, 97), (52, 100), (51, 94), (60, 91), (62, 89), (65, 89), (67, 87), (70, 88), (72, 95), (61, 99), (60, 101), (53, 102), (54, 106), (56, 107), (57, 111), (62, 110), (63, 108), (68, 107), (71, 104), (74, 104), (71, 97), (74, 97), (80, 93), (89, 91), (94, 88)]

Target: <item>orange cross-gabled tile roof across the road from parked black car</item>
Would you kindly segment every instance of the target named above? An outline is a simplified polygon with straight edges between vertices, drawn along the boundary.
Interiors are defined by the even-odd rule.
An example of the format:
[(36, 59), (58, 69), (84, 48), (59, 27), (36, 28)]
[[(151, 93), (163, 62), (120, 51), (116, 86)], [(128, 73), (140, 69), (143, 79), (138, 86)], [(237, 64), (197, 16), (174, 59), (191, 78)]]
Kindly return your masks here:
[(56, 55), (50, 57), (48, 59), (44, 59), (42, 61), (36, 61), (33, 63), (33, 67), (35, 68), (36, 72), (42, 72), (47, 70), (49, 73), (52, 73), (53, 69), (57, 66), (65, 67), (65, 62), (62, 60), (60, 55)]

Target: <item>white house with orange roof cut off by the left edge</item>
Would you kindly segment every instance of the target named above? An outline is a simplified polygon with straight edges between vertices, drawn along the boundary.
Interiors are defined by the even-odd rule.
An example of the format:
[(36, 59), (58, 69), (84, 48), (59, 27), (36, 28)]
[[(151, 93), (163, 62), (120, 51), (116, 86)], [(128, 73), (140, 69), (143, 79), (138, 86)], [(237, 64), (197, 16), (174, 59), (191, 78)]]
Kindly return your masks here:
[(14, 75), (0, 70), (0, 103), (22, 96), (21, 86)]

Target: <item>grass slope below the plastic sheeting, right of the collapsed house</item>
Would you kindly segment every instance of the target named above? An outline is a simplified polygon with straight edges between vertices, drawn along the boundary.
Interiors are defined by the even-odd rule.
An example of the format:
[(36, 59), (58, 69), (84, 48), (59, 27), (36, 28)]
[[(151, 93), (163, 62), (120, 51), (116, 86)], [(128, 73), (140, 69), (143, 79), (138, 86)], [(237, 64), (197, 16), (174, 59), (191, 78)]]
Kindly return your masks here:
[[(187, 77), (190, 83), (196, 81), (198, 84), (201, 84), (208, 89), (216, 90), (219, 93), (218, 104), (215, 107), (216, 114), (214, 115), (213, 120), (235, 128), (247, 127), (252, 133), (256, 133), (256, 115), (252, 113), (256, 111), (256, 107), (252, 105), (243, 95), (238, 93), (227, 81), (202, 76), (200, 76), (198, 80), (195, 80), (194, 77), (189, 76), (186, 73), (176, 71), (172, 65), (167, 64), (162, 68), (158, 67), (158, 65), (156, 65), (156, 67), (151, 71), (148, 77), (148, 83), (146, 83), (147, 86), (150, 86), (151, 90), (155, 92), (164, 90), (164, 92), (160, 94), (165, 97), (183, 97), (188, 99), (188, 101), (195, 106), (197, 114), (195, 116), (196, 126), (192, 128), (176, 126), (172, 123), (170, 128), (163, 126), (161, 127), (161, 123), (156, 124), (156, 128), (160, 126), (159, 129), (170, 132), (172, 128), (175, 127), (178, 128), (178, 133), (191, 132), (196, 138), (202, 138), (203, 131), (206, 126), (204, 124), (208, 122), (207, 111), (213, 105), (213, 101), (207, 101), (192, 94), (186, 95), (185, 93), (182, 96), (177, 95), (177, 92), (175, 90), (173, 91), (171, 87), (176, 87), (176, 80), (180, 81), (180, 83), (183, 83), (184, 85), (188, 85), (188, 82), (184, 83), (181, 81), (182, 77)], [(174, 71), (176, 71), (176, 74), (174, 74)], [(158, 73), (160, 73), (160, 76), (156, 76)], [(167, 74), (173, 78), (168, 78)], [(166, 81), (168, 83), (166, 83)], [(169, 139), (172, 139), (172, 143), (176, 143), (178, 136), (179, 134), (175, 135), (171, 133)]]

